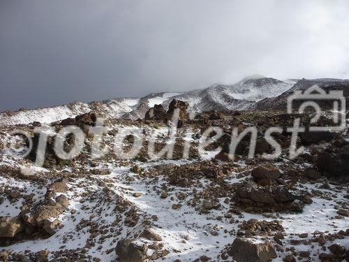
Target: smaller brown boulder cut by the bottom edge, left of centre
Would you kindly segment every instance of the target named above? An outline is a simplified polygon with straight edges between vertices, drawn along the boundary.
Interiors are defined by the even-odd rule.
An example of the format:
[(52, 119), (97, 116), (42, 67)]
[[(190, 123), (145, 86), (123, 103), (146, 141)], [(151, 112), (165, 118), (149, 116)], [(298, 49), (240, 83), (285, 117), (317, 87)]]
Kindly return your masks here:
[(119, 262), (142, 262), (147, 259), (147, 249), (147, 245), (124, 239), (117, 242), (115, 253), (119, 256)]

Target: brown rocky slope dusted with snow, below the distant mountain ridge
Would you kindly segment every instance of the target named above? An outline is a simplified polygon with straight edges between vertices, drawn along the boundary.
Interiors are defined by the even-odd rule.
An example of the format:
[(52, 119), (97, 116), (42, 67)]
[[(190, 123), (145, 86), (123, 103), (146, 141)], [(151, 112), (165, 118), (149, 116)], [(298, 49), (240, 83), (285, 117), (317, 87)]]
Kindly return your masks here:
[[(301, 137), (305, 150), (290, 160), (290, 133), (280, 133), (280, 157), (263, 158), (272, 150), (265, 130), (294, 117), (279, 110), (202, 113), (184, 123), (170, 159), (148, 151), (151, 140), (156, 152), (168, 143), (161, 120), (107, 119), (103, 146), (110, 151), (99, 159), (89, 151), (93, 136), (66, 161), (54, 155), (51, 133), (42, 168), (35, 157), (1, 146), (0, 260), (348, 261), (348, 135)], [(71, 123), (87, 132), (94, 117), (57, 122), (54, 132)], [(225, 136), (200, 148), (206, 126), (223, 126)], [(248, 140), (233, 160), (217, 150), (235, 126), (258, 126), (255, 158), (247, 158)], [(0, 126), (1, 143), (14, 127)], [(34, 127), (21, 126), (28, 133)], [(122, 159), (115, 137), (135, 127), (144, 136), (140, 154)], [(123, 143), (127, 149), (133, 139)]]

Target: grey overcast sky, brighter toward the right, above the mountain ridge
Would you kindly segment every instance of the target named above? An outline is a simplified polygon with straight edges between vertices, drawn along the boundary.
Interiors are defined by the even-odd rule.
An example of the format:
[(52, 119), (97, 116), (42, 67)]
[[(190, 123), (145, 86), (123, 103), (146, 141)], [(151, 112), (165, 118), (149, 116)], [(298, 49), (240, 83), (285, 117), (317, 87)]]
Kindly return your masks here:
[(349, 1), (0, 0), (0, 111), (349, 78)]

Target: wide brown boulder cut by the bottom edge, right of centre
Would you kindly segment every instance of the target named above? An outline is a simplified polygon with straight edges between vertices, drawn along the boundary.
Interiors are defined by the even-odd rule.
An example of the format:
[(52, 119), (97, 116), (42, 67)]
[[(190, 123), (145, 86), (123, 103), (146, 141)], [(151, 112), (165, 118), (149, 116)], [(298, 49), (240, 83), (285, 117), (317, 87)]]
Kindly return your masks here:
[(228, 254), (239, 262), (268, 262), (277, 257), (271, 243), (256, 243), (242, 238), (235, 238)]

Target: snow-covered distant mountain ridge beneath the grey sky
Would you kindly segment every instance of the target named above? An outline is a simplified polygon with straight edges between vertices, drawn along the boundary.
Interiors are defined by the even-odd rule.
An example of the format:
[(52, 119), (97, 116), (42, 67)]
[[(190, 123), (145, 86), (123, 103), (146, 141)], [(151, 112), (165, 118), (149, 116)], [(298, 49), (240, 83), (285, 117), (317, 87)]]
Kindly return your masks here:
[(278, 80), (252, 75), (233, 85), (211, 85), (205, 89), (189, 92), (161, 92), (142, 98), (118, 98), (91, 103), (73, 102), (51, 108), (19, 110), (0, 113), (0, 124), (29, 124), (31, 122), (51, 123), (68, 117), (75, 117), (94, 110), (105, 118), (143, 118), (145, 112), (155, 104), (168, 108), (172, 99), (188, 101), (189, 110), (267, 110), (285, 107), (287, 97), (295, 89), (307, 89), (312, 85), (339, 87), (349, 85), (349, 80), (322, 78), (315, 80)]

